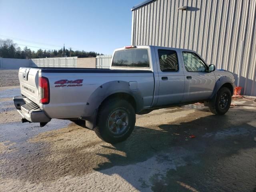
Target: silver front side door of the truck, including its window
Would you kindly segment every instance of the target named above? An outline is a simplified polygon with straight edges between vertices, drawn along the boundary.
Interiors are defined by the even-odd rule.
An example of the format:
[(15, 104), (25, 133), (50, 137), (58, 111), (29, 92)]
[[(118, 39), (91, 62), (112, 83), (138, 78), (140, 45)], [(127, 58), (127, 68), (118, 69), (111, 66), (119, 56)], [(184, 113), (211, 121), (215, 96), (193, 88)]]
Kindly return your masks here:
[(208, 72), (206, 63), (195, 52), (182, 51), (181, 56), (185, 75), (182, 102), (209, 98), (215, 86), (214, 72)]

